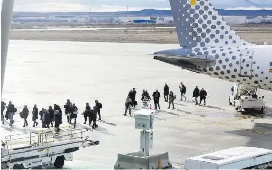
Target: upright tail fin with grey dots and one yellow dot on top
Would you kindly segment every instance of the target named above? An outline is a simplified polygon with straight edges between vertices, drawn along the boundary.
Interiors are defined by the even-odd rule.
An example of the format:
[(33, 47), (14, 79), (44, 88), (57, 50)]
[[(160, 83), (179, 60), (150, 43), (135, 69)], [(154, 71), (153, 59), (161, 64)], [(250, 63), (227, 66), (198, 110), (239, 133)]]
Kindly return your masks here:
[(208, 0), (170, 0), (180, 47), (244, 46)]

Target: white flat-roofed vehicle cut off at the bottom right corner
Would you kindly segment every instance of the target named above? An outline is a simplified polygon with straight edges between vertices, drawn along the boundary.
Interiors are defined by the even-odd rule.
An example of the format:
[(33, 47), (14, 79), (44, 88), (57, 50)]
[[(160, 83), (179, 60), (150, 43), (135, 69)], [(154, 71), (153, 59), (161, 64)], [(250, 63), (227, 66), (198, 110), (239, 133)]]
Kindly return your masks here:
[(183, 169), (272, 169), (272, 150), (234, 147), (185, 160)]

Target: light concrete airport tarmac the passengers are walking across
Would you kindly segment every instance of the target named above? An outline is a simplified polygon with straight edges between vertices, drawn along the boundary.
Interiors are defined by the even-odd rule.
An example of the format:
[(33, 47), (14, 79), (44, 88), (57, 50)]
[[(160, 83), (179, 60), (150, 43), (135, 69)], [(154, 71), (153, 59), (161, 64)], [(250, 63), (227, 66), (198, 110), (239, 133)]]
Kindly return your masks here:
[[(161, 110), (154, 120), (153, 153), (169, 152), (174, 168), (182, 168), (188, 157), (236, 146), (272, 149), (272, 92), (261, 91), (266, 106), (264, 115), (244, 115), (228, 103), (233, 83), (210, 78), (154, 60), (152, 54), (160, 49), (176, 48), (170, 44), (94, 43), (60, 41), (11, 40), (2, 100), (13, 101), (18, 112), (27, 105), (47, 108), (54, 103), (63, 105), (67, 99), (83, 112), (85, 103), (102, 104), (102, 121), (92, 130), (77, 118), (77, 128), (88, 128), (91, 140), (98, 146), (80, 148), (74, 161), (65, 169), (113, 169), (117, 153), (129, 153), (140, 148), (140, 130), (135, 129), (133, 112), (142, 107), (141, 91), (150, 95), (161, 93)], [(179, 83), (187, 87), (187, 100), (180, 101)], [(163, 87), (167, 83), (177, 100), (175, 109), (167, 109)], [(207, 105), (192, 102), (193, 88), (207, 90)], [(123, 116), (125, 99), (133, 87), (137, 90), (138, 106), (132, 116)], [(152, 107), (153, 100), (151, 100)], [(5, 135), (35, 130), (23, 128), (24, 120), (17, 114), (12, 128), (1, 125)], [(32, 125), (32, 115), (28, 116)], [(63, 116), (62, 126), (66, 124)]]

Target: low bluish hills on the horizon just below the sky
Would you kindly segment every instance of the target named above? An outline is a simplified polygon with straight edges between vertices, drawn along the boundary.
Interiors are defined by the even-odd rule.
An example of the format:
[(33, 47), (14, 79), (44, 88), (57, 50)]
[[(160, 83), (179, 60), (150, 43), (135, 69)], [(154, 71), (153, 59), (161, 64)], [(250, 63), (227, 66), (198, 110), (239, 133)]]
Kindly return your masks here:
[[(218, 9), (222, 16), (272, 16), (272, 10), (224, 10)], [(172, 16), (171, 10), (144, 9), (141, 11), (120, 12), (13, 12), (13, 17), (36, 16), (46, 17), (54, 15), (90, 15), (90, 16)]]

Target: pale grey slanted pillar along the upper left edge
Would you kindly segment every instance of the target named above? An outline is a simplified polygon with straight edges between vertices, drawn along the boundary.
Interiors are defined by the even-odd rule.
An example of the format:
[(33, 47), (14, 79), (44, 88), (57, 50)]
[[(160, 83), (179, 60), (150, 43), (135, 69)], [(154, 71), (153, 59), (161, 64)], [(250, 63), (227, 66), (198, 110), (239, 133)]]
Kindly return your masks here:
[(6, 69), (14, 0), (3, 0), (1, 9), (1, 99)]

